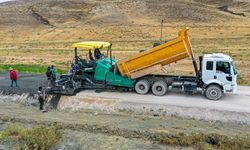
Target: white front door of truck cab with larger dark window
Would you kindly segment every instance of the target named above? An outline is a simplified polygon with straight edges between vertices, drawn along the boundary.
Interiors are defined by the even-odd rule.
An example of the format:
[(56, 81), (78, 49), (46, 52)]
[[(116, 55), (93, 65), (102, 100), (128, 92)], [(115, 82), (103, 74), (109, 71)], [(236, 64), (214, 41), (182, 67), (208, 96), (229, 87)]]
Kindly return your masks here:
[(230, 63), (226, 61), (217, 61), (214, 78), (223, 83), (225, 92), (229, 92), (233, 81)]

